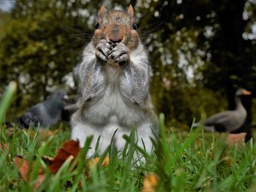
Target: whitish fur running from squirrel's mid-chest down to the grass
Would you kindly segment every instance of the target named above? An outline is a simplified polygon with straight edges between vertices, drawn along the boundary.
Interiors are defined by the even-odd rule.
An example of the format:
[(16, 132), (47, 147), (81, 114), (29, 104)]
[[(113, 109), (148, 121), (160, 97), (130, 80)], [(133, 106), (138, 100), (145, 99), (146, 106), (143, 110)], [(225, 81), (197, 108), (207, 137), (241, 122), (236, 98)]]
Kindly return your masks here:
[(100, 136), (98, 152), (102, 153), (110, 145), (117, 129), (113, 142), (118, 151), (121, 151), (125, 145), (123, 135), (129, 135), (131, 126), (136, 126), (138, 146), (144, 148), (145, 145), (146, 151), (151, 153), (153, 146), (150, 137), (154, 138), (151, 120), (144, 115), (140, 107), (127, 104), (121, 97), (117, 82), (119, 78), (116, 77), (120, 75), (118, 70), (109, 68), (106, 71), (108, 82), (105, 85), (104, 95), (90, 104), (80, 121), (72, 120), (71, 139), (78, 139), (80, 147), (83, 147), (86, 138), (93, 136), (91, 149), (87, 154), (91, 156), (95, 152), (98, 137)]

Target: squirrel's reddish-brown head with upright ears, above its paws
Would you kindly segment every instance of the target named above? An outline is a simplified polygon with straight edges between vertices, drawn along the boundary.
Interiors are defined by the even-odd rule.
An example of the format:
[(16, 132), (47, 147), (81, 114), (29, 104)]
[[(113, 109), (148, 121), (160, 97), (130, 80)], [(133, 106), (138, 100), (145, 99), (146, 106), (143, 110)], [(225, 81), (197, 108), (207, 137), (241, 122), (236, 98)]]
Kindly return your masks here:
[(101, 39), (106, 39), (108, 42), (124, 43), (130, 50), (135, 49), (138, 46), (139, 36), (133, 15), (132, 5), (129, 6), (128, 12), (107, 11), (103, 5), (95, 25), (94, 45), (97, 45)]

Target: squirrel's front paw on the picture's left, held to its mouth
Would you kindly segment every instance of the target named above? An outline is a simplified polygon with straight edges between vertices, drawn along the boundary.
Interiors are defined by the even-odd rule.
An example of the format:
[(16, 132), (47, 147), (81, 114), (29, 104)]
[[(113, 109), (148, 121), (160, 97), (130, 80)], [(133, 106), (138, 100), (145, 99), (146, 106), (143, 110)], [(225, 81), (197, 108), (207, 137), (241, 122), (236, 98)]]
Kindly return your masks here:
[(107, 42), (105, 39), (101, 39), (99, 41), (99, 44), (96, 46), (95, 55), (97, 56), (97, 58), (102, 61), (108, 62), (108, 55), (112, 50), (111, 45), (113, 45), (113, 43)]

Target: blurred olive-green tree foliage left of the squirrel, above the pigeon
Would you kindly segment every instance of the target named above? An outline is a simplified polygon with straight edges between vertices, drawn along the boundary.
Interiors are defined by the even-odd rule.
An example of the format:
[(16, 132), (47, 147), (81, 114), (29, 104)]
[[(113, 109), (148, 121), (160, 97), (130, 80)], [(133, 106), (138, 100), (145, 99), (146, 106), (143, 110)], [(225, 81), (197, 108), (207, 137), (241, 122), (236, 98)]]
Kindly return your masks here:
[[(74, 91), (72, 69), (92, 37), (100, 2), (17, 0), (0, 46), (0, 82), (18, 81), (16, 105), (29, 106), (56, 88)], [(86, 8), (85, 8), (86, 7)]]

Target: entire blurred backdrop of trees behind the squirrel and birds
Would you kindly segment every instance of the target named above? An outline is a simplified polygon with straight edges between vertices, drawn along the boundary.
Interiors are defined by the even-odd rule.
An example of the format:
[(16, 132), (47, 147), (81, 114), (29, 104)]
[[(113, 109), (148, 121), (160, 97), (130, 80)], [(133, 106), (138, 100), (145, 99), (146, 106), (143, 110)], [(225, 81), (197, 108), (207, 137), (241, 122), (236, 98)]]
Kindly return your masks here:
[(77, 92), (73, 69), (102, 4), (134, 6), (154, 70), (154, 105), (168, 126), (188, 129), (194, 118), (233, 110), (238, 88), (253, 93), (243, 100), (243, 128), (256, 125), (255, 0), (1, 0), (0, 97), (11, 80), (18, 82), (7, 119), (57, 89)]

